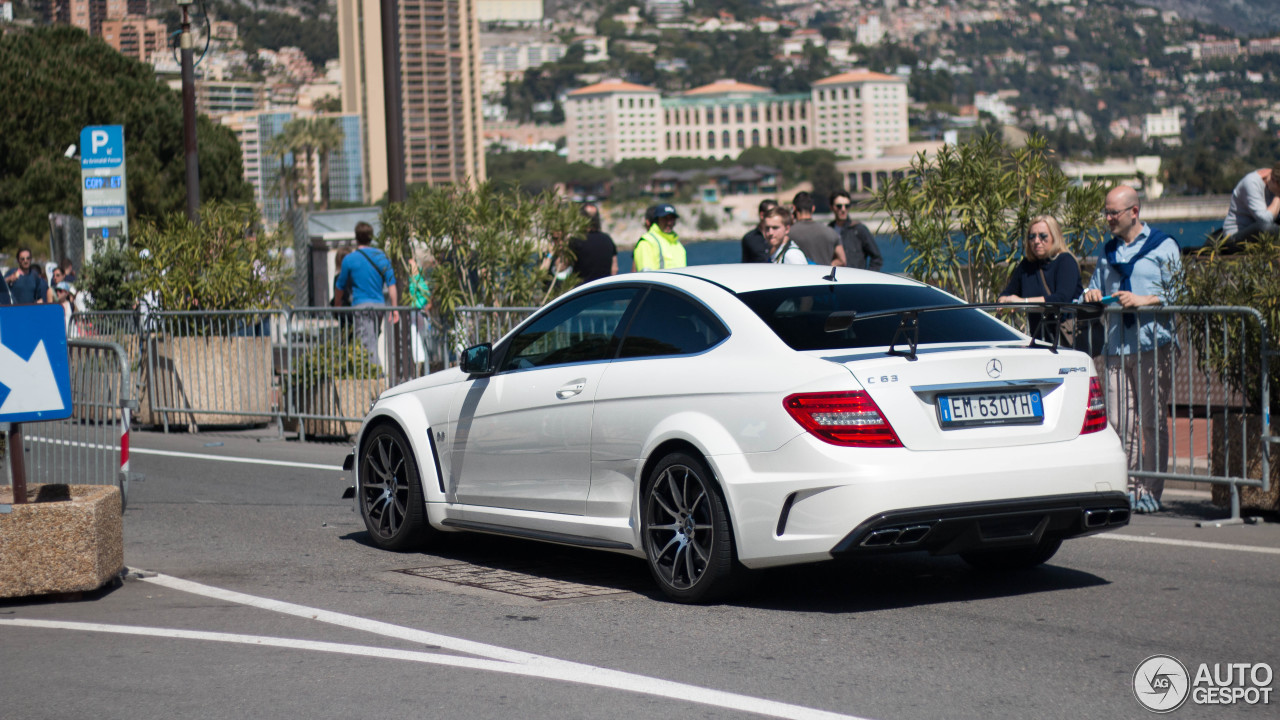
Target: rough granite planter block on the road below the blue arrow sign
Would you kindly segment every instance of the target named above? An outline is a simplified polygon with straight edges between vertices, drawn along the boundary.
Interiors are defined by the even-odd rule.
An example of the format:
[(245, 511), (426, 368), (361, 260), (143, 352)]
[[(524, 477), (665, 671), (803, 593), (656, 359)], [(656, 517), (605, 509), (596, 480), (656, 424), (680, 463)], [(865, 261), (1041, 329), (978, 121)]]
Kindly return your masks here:
[(93, 591), (124, 569), (118, 488), (33, 484), (12, 502), (0, 488), (0, 597)]

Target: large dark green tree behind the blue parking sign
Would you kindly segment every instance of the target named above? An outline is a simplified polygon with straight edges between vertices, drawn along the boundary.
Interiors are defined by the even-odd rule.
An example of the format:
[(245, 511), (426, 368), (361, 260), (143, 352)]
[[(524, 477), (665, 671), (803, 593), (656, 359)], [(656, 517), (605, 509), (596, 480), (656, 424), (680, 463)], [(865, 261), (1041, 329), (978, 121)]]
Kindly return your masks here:
[[(68, 26), (0, 35), (0, 247), (42, 245), (49, 214), (81, 213), (79, 168), (63, 156), (86, 126), (124, 126), (129, 222), (186, 206), (182, 99), (151, 65)], [(247, 201), (230, 129), (197, 124), (201, 200)]]

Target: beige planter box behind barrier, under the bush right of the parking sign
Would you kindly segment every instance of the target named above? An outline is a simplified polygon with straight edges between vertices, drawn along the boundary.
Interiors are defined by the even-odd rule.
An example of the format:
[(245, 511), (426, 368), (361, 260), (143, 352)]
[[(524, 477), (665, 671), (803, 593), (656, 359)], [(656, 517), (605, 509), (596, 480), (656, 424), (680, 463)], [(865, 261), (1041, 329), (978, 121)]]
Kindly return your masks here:
[[(269, 337), (154, 337), (142, 354), (143, 425), (246, 425), (274, 413)], [(165, 410), (168, 409), (168, 410)]]

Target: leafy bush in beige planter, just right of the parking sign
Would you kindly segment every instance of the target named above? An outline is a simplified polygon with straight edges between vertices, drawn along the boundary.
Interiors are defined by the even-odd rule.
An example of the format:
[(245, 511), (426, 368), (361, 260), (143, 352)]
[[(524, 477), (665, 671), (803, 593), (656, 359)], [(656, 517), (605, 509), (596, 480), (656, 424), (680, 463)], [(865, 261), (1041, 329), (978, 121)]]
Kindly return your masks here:
[[(131, 238), (129, 292), (147, 332), (138, 421), (179, 409), (195, 425), (244, 424), (274, 402), (270, 316), (291, 288), (284, 231), (247, 204), (210, 202), (200, 222), (172, 214)], [(233, 310), (233, 315), (218, 311)], [(163, 313), (163, 314), (157, 314)], [(173, 314), (169, 314), (173, 313)], [(219, 413), (236, 407), (243, 414)]]

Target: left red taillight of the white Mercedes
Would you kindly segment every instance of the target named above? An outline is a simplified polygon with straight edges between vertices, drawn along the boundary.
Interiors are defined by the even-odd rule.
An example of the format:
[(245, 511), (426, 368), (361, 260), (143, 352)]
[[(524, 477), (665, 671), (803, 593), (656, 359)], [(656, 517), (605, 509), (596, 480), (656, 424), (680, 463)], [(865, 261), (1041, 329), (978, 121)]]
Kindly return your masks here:
[(782, 406), (820, 441), (845, 447), (901, 447), (867, 391), (792, 395)]

